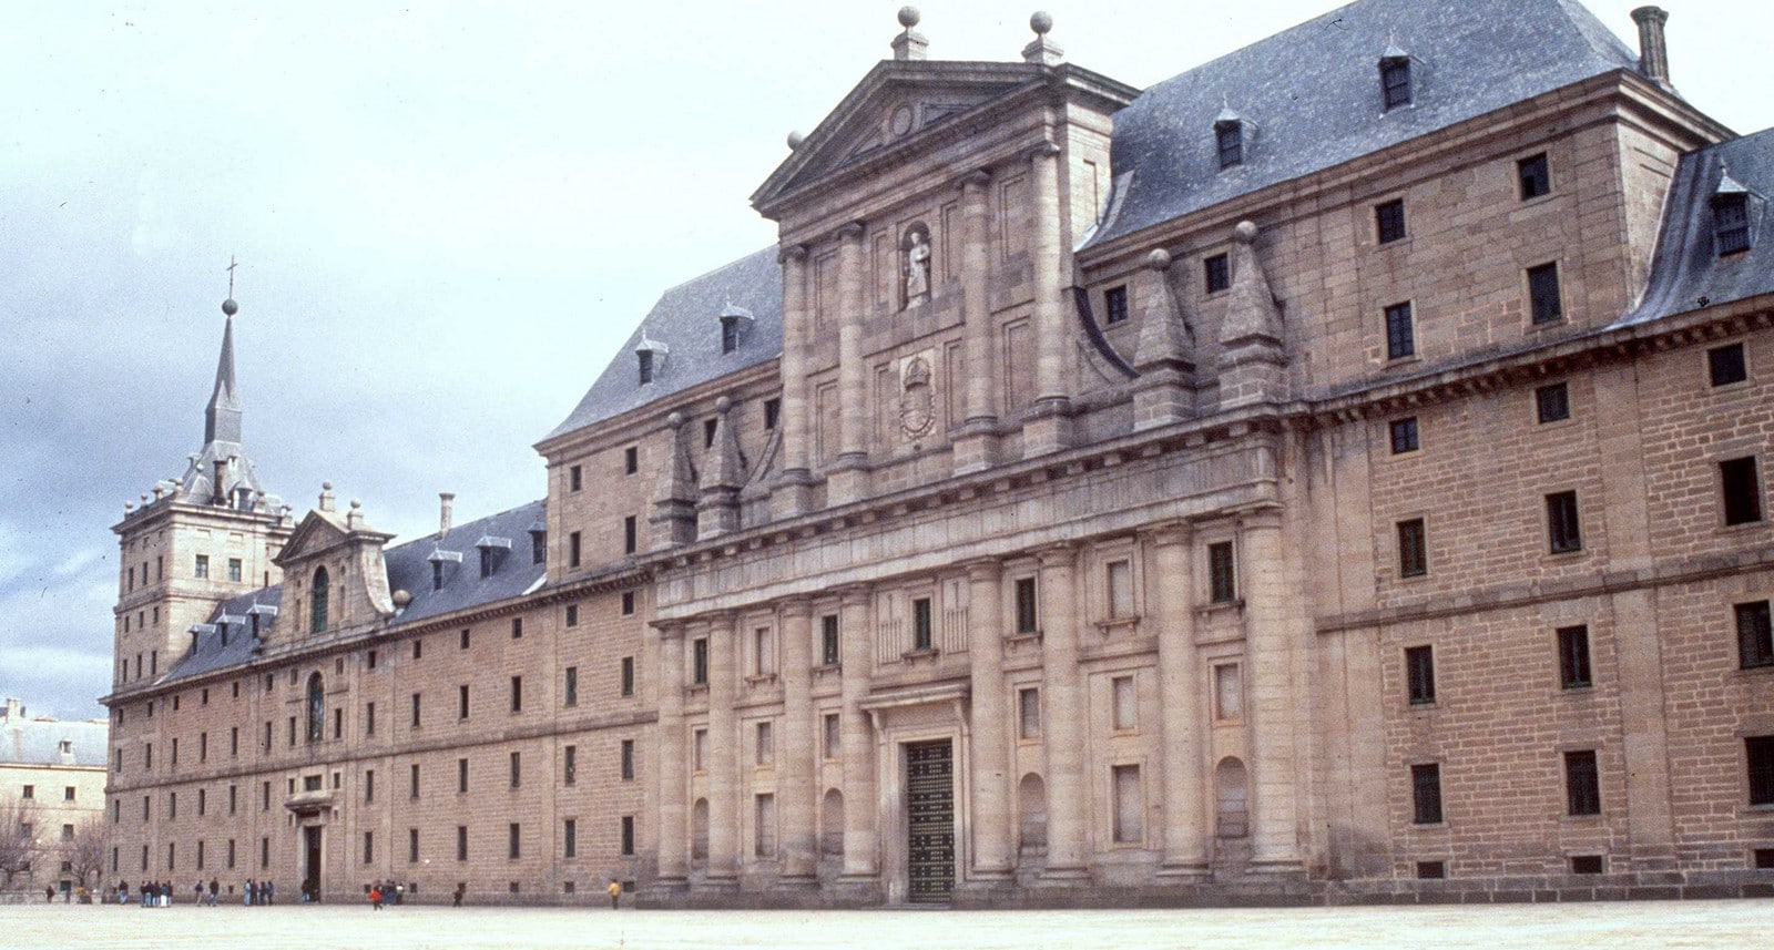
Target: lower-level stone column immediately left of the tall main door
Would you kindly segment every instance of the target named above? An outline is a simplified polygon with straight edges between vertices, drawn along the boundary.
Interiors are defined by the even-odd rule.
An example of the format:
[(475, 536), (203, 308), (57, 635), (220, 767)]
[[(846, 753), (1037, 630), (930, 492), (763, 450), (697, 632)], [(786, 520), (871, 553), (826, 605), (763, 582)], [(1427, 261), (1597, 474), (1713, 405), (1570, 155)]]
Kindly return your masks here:
[(875, 643), (869, 588), (841, 592), (839, 636), (843, 658), (843, 720), (839, 744), (844, 757), (844, 877), (873, 883), (880, 868), (880, 828), (875, 801), (875, 728), (862, 700), (869, 695), (869, 654)]

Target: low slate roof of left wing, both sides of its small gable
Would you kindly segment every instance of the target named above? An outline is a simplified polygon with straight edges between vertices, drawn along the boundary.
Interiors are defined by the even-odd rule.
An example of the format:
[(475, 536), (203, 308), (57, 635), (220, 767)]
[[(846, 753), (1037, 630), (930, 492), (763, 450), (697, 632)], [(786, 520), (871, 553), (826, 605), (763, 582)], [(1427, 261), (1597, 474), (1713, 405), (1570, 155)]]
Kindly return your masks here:
[[(419, 620), (534, 590), (543, 580), (545, 565), (532, 562), (529, 532), (532, 526), (539, 528), (546, 523), (545, 514), (546, 502), (536, 500), (477, 521), (454, 525), (442, 539), (433, 532), (394, 548), (383, 548), (381, 562), (389, 571), (389, 590), (406, 590), (413, 596), (406, 610), (401, 610), (389, 627), (399, 629)], [(484, 539), (511, 541), (511, 548), (493, 546), (493, 574), (488, 578), (481, 576), (481, 551), (475, 548), (475, 542)], [(436, 590), (431, 588), (433, 551), (461, 555), (459, 562), (444, 562), (444, 587)], [(208, 629), (200, 627), (195, 649), (167, 672), (167, 681), (188, 679), (250, 661), (254, 656), (252, 608), (280, 608), (282, 601), (282, 585), (222, 601), (209, 615)], [(259, 629), (266, 635), (277, 633), (279, 622), (277, 615), (259, 615)], [(99, 748), (99, 757), (103, 759), (103, 755), (105, 750)]]

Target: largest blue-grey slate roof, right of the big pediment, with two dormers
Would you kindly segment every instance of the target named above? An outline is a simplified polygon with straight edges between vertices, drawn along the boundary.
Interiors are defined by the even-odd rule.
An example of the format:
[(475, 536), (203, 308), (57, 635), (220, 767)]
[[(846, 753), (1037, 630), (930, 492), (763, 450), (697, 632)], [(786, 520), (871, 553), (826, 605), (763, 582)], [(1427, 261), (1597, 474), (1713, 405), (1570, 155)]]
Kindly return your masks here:
[[(1412, 105), (1385, 112), (1380, 57), (1410, 57)], [(1575, 0), (1359, 0), (1164, 80), (1114, 117), (1100, 245), (1575, 82), (1637, 55)], [(1219, 168), (1213, 121), (1247, 126)]]

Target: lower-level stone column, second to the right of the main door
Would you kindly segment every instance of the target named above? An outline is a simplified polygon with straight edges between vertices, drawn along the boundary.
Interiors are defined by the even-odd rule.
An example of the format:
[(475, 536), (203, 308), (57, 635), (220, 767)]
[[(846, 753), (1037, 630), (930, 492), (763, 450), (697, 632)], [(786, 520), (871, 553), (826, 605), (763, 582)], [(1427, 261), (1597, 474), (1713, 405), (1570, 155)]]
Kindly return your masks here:
[(1041, 562), (1041, 663), (1047, 674), (1047, 868), (1041, 877), (1077, 881), (1089, 876), (1084, 860), (1089, 704), (1079, 675), (1079, 548), (1056, 544), (1036, 557)]

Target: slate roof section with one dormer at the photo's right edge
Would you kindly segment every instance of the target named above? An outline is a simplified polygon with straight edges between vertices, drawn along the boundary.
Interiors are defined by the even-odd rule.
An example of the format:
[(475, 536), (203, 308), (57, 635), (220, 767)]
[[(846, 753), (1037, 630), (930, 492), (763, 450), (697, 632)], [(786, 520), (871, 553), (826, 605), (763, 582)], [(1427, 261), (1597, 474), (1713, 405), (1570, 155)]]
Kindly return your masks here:
[[(1719, 257), (1714, 246), (1712, 195), (1724, 175), (1749, 191), (1749, 250)], [(1726, 186), (1730, 188), (1730, 186)], [(1682, 156), (1644, 300), (1616, 326), (1653, 321), (1708, 305), (1774, 292), (1774, 129), (1758, 131)]]

